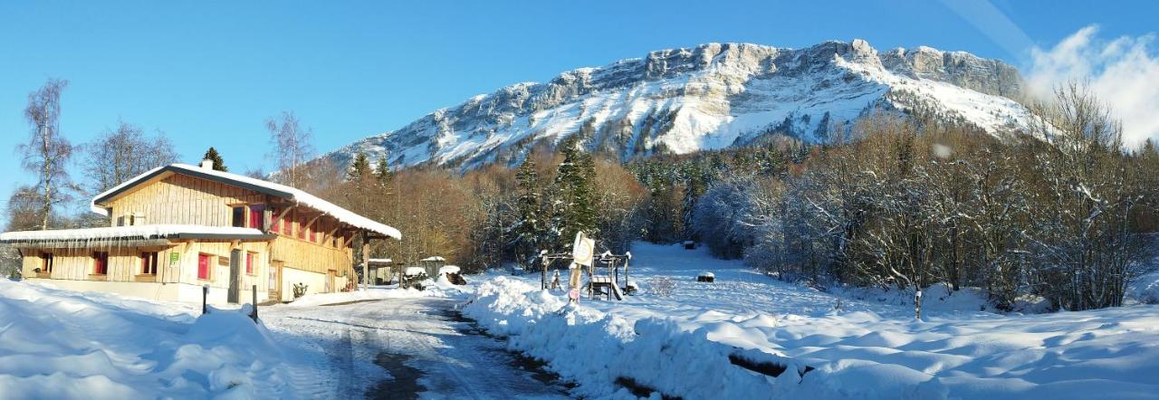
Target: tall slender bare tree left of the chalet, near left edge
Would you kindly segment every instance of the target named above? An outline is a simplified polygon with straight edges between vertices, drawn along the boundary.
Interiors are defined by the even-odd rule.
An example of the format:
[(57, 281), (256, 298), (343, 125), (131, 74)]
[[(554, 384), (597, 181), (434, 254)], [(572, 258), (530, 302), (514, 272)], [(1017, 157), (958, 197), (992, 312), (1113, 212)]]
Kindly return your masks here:
[(36, 92), (28, 94), (24, 118), (32, 125), (28, 143), (16, 146), (24, 155), (24, 169), (36, 173), (35, 186), (39, 192), (39, 227), (48, 230), (52, 209), (72, 199), (75, 187), (65, 166), (72, 158), (73, 146), (60, 134), (60, 93), (67, 80), (49, 79)]

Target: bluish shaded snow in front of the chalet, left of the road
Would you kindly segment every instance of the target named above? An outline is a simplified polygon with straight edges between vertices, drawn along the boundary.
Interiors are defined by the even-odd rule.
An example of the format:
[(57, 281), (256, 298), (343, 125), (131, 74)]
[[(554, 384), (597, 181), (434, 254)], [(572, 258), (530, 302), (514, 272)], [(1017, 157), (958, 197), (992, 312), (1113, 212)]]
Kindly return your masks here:
[(292, 395), (247, 315), (0, 279), (0, 398)]

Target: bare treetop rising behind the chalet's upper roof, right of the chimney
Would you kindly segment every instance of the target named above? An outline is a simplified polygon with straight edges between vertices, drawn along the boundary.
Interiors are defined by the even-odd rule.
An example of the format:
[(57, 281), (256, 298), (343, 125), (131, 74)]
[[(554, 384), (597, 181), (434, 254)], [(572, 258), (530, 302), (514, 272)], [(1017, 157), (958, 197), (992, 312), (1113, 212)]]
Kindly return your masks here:
[(291, 187), (299, 187), (305, 181), (302, 166), (314, 154), (314, 146), (311, 144), (313, 130), (301, 128), (293, 111), (282, 111), (280, 119), (267, 119), (265, 129), (270, 131), (270, 141), (274, 144), (271, 157), (277, 160), (278, 180)]

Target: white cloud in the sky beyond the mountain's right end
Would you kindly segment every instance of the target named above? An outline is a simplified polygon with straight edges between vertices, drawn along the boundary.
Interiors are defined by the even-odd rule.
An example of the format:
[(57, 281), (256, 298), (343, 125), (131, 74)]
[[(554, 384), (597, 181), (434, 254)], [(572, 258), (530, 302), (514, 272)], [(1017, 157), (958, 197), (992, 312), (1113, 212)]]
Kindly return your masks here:
[(1159, 52), (1156, 35), (1107, 41), (1088, 26), (1052, 49), (1030, 50), (1027, 83), (1037, 95), (1070, 80), (1085, 80), (1123, 122), (1123, 140), (1136, 147), (1159, 140)]

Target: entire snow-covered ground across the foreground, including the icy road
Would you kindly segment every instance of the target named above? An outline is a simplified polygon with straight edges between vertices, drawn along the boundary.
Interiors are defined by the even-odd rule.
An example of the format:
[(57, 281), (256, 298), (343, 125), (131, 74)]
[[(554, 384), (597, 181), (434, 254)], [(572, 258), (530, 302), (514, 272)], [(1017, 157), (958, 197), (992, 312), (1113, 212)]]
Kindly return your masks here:
[[(997, 314), (976, 292), (939, 286), (916, 321), (898, 293), (822, 292), (702, 249), (633, 253), (642, 290), (625, 301), (568, 306), (538, 274), (495, 272), (467, 286), (311, 294), (262, 307), (263, 326), (0, 281), (0, 398), (1159, 398), (1157, 305)], [(705, 271), (716, 282), (695, 282)], [(1131, 296), (1157, 289), (1152, 275)]]

